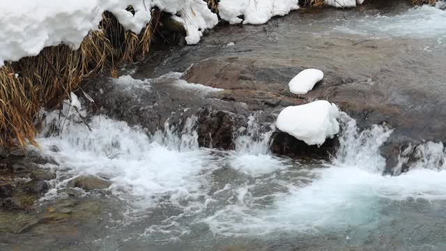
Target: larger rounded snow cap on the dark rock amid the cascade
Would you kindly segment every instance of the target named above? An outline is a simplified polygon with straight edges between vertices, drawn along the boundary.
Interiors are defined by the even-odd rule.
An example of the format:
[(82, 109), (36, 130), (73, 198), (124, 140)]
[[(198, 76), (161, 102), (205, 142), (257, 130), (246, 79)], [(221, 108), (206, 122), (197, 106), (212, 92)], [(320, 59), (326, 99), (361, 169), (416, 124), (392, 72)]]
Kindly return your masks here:
[(321, 145), (339, 132), (336, 105), (318, 100), (306, 105), (286, 107), (277, 117), (277, 128), (308, 145)]

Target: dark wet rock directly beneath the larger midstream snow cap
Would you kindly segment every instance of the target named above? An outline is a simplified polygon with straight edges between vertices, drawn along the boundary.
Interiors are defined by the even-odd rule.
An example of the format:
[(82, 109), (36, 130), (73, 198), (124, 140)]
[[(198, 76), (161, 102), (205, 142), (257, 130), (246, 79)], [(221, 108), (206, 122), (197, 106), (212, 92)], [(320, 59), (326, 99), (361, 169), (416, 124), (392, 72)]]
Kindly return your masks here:
[(270, 149), (277, 155), (285, 155), (302, 160), (325, 159), (336, 152), (339, 141), (337, 137), (325, 140), (321, 146), (309, 146), (305, 142), (289, 135), (286, 132), (277, 131), (271, 135)]

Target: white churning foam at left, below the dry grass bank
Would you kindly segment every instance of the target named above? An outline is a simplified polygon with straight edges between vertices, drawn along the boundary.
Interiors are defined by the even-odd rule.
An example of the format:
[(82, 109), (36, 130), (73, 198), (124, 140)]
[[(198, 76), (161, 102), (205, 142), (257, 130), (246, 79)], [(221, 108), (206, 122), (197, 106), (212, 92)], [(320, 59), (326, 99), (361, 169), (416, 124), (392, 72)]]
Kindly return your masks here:
[[(38, 143), (61, 163), (60, 168), (72, 175), (105, 175), (113, 181), (116, 195), (144, 198), (144, 206), (160, 194), (172, 200), (193, 197), (201, 184), (201, 169), (212, 167), (207, 151), (198, 149), (194, 137), (192, 143), (190, 137), (179, 137), (166, 145), (158, 143), (160, 135), (148, 137), (144, 130), (103, 116), (93, 117), (90, 125), (93, 132), (69, 121), (62, 135)], [(167, 132), (164, 137), (174, 136)], [(53, 145), (58, 153), (49, 151)]]

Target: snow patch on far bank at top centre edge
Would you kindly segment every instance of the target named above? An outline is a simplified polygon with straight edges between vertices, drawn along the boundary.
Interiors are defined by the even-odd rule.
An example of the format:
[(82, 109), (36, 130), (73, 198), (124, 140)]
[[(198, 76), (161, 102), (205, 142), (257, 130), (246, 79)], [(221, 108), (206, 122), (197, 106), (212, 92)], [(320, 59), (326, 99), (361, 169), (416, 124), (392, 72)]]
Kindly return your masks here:
[(297, 10), (298, 0), (220, 0), (218, 11), (222, 20), (231, 24), (264, 24), (276, 15), (286, 15)]

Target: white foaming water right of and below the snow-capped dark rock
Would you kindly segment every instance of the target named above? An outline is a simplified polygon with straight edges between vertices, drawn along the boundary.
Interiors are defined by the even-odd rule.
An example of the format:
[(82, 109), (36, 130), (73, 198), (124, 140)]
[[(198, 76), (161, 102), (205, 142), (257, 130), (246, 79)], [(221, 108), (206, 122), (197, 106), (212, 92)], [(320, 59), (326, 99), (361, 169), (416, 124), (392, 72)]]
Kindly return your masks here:
[[(273, 195), (274, 204), (262, 210), (254, 210), (257, 205), (253, 197), (236, 201), (203, 222), (214, 233), (225, 236), (271, 236), (293, 231), (316, 234), (344, 232), (352, 227), (367, 233), (384, 224), (380, 208), (390, 203), (386, 201), (446, 199), (445, 170), (418, 168), (401, 176), (383, 176), (385, 162), (379, 146), (392, 131), (374, 126), (359, 133), (352, 119), (341, 119), (347, 128), (336, 164), (307, 170), (311, 183), (288, 183), (289, 192)], [(440, 146), (433, 148), (439, 153)]]

